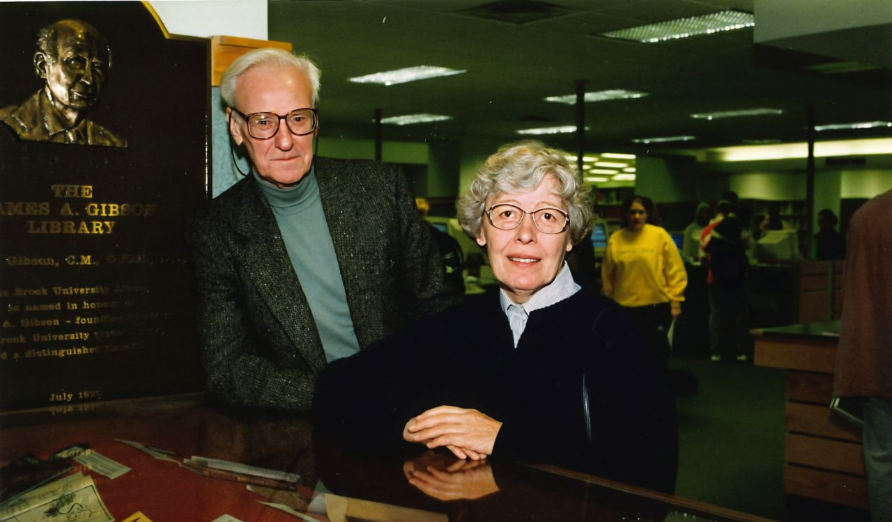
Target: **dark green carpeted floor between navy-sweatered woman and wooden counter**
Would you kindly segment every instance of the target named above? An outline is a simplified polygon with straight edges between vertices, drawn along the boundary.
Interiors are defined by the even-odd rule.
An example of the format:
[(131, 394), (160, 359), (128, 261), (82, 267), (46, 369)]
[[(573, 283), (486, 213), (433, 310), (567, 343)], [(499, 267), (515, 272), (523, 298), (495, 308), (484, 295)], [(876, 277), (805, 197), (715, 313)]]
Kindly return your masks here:
[(699, 380), (677, 399), (676, 494), (784, 520), (784, 371), (681, 357), (670, 367)]

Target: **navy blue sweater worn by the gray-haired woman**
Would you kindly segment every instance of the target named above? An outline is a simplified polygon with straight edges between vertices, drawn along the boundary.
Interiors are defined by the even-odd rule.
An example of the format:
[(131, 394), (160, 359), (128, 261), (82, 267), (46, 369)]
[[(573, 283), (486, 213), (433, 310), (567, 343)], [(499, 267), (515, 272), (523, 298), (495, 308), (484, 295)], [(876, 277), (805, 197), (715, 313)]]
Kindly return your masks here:
[(317, 382), (317, 425), (384, 453), (408, 444), (402, 429), (417, 414), (442, 404), (474, 408), (503, 423), (492, 458), (671, 493), (673, 396), (641, 333), (620, 306), (580, 290), (531, 313), (515, 348), (498, 295), (469, 299), (329, 364)]

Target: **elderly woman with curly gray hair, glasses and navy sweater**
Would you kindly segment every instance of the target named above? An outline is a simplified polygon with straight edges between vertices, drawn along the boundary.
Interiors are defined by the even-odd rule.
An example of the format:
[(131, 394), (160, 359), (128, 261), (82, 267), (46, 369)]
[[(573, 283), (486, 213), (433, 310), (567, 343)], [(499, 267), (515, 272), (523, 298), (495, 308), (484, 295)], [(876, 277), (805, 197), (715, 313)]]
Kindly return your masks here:
[(654, 350), (564, 261), (591, 221), (565, 153), (502, 147), (458, 219), (500, 290), (331, 363), (317, 383), (318, 428), (376, 453), (444, 447), (672, 491), (673, 397)]

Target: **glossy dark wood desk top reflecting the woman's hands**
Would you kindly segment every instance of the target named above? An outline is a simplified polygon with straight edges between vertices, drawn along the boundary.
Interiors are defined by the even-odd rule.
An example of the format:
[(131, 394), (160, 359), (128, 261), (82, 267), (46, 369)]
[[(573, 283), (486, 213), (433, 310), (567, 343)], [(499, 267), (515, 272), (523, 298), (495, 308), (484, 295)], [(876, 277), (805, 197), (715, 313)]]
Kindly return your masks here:
[[(181, 457), (280, 469), (301, 479), (296, 492), (278, 492), (270, 500), (244, 484), (202, 477), (175, 462), (154, 459), (116, 438)], [(303, 520), (331, 522), (764, 520), (553, 467), (497, 459), (458, 461), (450, 453), (430, 451), (399, 458), (359, 456), (326, 437), (314, 439), (306, 415), (232, 411), (200, 404), (199, 396), (0, 414), (4, 464), (27, 453), (46, 458), (69, 445), (89, 445), (132, 469), (109, 479), (76, 467), (93, 477), (116, 520), (136, 511), (153, 522), (210, 522), (224, 514), (244, 522), (299, 519), (260, 501), (285, 503), (303, 513)], [(338, 496), (321, 497), (323, 491)], [(325, 501), (321, 509), (320, 500)]]

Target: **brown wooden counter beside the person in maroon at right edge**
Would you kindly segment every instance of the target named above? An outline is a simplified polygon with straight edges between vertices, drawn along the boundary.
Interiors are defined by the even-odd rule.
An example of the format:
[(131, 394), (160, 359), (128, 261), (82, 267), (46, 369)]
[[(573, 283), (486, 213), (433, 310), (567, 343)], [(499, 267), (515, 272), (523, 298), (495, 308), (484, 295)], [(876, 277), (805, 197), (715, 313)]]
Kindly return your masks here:
[(829, 407), (839, 322), (751, 333), (756, 365), (787, 370), (784, 493), (866, 510), (861, 430)]

